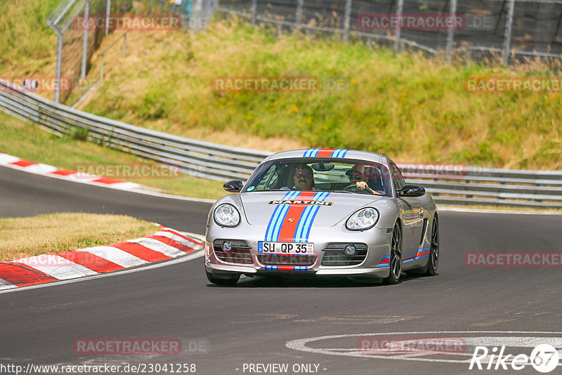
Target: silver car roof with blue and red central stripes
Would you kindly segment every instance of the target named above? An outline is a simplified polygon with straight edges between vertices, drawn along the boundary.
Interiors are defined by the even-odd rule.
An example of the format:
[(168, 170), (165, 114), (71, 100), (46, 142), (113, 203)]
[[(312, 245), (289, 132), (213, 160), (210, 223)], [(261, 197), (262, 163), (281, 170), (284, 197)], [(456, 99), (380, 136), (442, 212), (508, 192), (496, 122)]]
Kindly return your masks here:
[(355, 159), (355, 160), (365, 160), (366, 162), (375, 162), (379, 164), (383, 164), (388, 166), (390, 164), (391, 159), (388, 157), (375, 154), (374, 152), (368, 151), (359, 151), (359, 150), (347, 150), (347, 149), (333, 149), (333, 148), (309, 148), (309, 149), (302, 149), (302, 150), (291, 150), (291, 151), (283, 151), (277, 152), (277, 154), (272, 154), (263, 162), (268, 162), (270, 160), (277, 160), (277, 159), (293, 159), (293, 158), (301, 158), (301, 157), (310, 157), (310, 158), (318, 158), (318, 157), (341, 157), (343, 159)]

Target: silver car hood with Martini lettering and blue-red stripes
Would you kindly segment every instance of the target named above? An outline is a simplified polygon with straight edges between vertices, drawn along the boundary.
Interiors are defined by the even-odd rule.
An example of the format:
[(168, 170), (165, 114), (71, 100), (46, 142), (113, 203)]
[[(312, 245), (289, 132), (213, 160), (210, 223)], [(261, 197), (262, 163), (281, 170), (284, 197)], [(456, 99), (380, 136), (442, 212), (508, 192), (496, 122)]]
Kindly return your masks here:
[(331, 227), (358, 209), (372, 206), (384, 197), (339, 192), (292, 191), (242, 193), (240, 199), (250, 225), (269, 225), (275, 221), (275, 216), (283, 215), (286, 211), (284, 222), (287, 222), (287, 225), (297, 225), (299, 221), (305, 221), (307, 213), (315, 213), (311, 218), (313, 220), (309, 219), (307, 223), (315, 227)]

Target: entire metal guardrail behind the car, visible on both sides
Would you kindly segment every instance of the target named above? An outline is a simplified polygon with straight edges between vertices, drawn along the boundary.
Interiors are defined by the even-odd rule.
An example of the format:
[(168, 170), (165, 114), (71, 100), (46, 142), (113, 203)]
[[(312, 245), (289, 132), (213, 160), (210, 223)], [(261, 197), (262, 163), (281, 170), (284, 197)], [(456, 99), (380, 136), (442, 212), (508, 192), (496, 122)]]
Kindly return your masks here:
[[(1, 79), (0, 109), (57, 136), (87, 129), (94, 142), (215, 180), (246, 180), (271, 154), (174, 136), (74, 110)], [(424, 173), (417, 173), (416, 166), (398, 165), (408, 183), (426, 187), (438, 204), (562, 207), (562, 171), (462, 167), (455, 173), (443, 173), (439, 166), (426, 165)]]

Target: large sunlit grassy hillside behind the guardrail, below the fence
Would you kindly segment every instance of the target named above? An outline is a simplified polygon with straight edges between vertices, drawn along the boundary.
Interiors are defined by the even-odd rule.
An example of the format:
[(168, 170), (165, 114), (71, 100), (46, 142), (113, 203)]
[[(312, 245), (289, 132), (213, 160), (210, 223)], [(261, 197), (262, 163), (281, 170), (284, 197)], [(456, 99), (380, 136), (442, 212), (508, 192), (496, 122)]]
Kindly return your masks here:
[[(133, 33), (85, 109), (150, 129), (190, 136), (235, 131), (310, 147), (388, 154), (400, 162), (452, 162), (521, 169), (562, 168), (560, 94), (476, 94), (469, 77), (551, 75), (540, 65), (454, 66), (418, 53), (373, 51), (360, 41), (307, 39), (215, 22), (200, 34)], [(113, 59), (113, 60), (112, 60)], [(111, 62), (113, 61), (113, 62)], [(341, 78), (343, 91), (216, 93), (215, 77)]]

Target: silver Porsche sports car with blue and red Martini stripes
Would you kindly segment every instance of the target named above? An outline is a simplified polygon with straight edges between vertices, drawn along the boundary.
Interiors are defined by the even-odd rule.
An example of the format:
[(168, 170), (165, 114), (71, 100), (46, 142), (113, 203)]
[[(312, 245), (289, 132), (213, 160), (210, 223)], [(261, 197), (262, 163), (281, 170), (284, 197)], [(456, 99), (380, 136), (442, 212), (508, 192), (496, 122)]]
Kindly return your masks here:
[(388, 157), (342, 149), (295, 150), (263, 160), (207, 219), (205, 270), (214, 284), (240, 275), (345, 276), (399, 282), (435, 275), (439, 222), (423, 187)]

